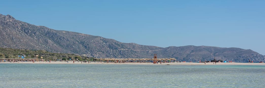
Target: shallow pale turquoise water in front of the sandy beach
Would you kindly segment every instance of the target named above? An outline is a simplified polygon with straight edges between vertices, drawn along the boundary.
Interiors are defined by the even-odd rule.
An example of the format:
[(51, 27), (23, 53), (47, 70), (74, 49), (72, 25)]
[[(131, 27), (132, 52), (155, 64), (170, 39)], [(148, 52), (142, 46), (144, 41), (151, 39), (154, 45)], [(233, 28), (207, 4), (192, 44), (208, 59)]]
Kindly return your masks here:
[(264, 87), (265, 65), (2, 64), (0, 87)]

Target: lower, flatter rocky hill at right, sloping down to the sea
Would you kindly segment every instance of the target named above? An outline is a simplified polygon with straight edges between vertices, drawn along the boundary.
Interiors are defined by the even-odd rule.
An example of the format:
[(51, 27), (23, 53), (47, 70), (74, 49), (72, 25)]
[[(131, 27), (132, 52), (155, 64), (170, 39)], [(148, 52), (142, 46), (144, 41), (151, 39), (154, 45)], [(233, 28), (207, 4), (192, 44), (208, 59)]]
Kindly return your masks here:
[(253, 61), (264, 61), (262, 55), (250, 49), (219, 48), (211, 46), (171, 46), (168, 47), (168, 49), (174, 51), (171, 51), (173, 53), (166, 52), (166, 56), (172, 55), (176, 58), (182, 57), (185, 61), (195, 61), (197, 58), (207, 60), (208, 58), (214, 57), (217, 60), (232, 60), (237, 62), (247, 62), (249, 59)]

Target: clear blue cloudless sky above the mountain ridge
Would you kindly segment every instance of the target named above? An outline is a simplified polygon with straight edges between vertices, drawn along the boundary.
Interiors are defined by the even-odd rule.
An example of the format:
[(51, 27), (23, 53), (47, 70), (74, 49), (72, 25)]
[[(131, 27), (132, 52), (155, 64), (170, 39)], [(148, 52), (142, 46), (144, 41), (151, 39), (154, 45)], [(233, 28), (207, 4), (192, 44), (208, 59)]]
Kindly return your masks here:
[(264, 0), (4, 0), (0, 14), (124, 43), (237, 47), (265, 55)]

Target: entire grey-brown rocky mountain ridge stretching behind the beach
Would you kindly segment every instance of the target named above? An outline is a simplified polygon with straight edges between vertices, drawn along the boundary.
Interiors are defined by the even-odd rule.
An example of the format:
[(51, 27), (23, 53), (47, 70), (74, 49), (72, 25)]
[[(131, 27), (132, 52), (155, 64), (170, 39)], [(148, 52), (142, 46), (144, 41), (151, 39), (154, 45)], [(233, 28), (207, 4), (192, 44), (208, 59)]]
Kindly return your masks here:
[(16, 20), (0, 14), (0, 47), (73, 53), (95, 58), (176, 58), (181, 61), (232, 60), (264, 61), (264, 56), (250, 49), (212, 46), (170, 46), (167, 48), (122, 43), (100, 36), (54, 30)]

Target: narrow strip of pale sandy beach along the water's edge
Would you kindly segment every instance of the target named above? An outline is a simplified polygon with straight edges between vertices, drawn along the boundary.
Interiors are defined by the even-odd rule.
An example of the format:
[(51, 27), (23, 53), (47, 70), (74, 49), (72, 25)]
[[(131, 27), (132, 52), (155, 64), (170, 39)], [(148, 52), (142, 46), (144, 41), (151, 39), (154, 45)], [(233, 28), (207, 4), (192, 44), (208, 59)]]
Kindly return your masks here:
[(105, 62), (90, 62), (90, 63), (84, 63), (81, 61), (79, 62), (71, 62), (69, 61), (68, 63), (67, 62), (64, 62), (64, 61), (52, 61), (51, 63), (48, 63), (48, 62), (35, 62), (35, 63), (32, 63), (32, 62), (15, 62), (15, 63), (10, 63), (10, 62), (1, 62), (0, 64), (130, 64), (130, 65), (265, 65), (265, 63), (195, 63), (195, 62), (178, 62), (178, 63), (158, 63), (158, 64), (153, 64), (153, 63), (105, 63)]

